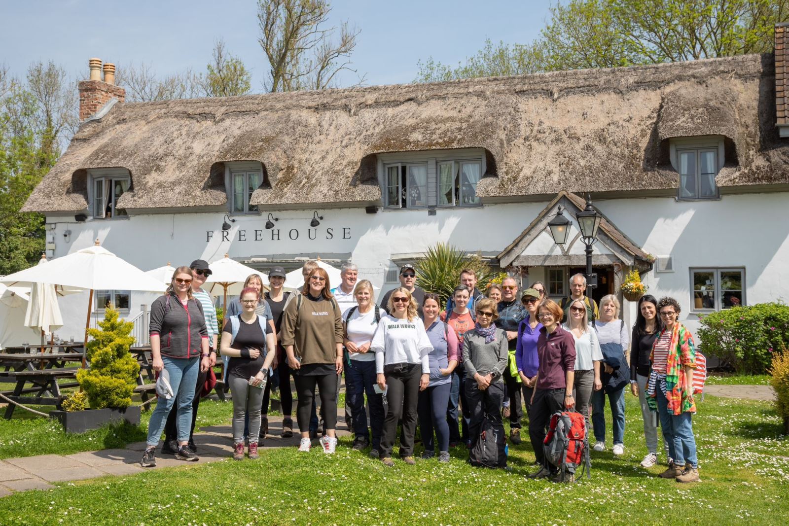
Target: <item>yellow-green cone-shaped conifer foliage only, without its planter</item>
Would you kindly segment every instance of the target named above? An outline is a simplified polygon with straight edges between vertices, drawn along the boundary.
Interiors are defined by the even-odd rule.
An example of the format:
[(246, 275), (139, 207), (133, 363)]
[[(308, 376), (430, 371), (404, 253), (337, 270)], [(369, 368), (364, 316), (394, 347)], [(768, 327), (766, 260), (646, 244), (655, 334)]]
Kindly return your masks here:
[(93, 337), (87, 345), (91, 367), (77, 372), (77, 382), (88, 395), (92, 409), (129, 407), (140, 373), (140, 365), (129, 353), (134, 324), (118, 319), (118, 311), (107, 308), (99, 326), (100, 330), (88, 330)]

